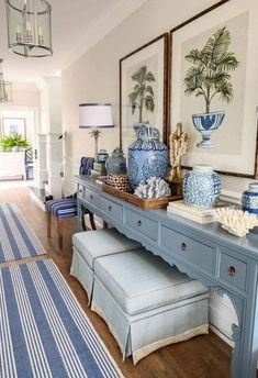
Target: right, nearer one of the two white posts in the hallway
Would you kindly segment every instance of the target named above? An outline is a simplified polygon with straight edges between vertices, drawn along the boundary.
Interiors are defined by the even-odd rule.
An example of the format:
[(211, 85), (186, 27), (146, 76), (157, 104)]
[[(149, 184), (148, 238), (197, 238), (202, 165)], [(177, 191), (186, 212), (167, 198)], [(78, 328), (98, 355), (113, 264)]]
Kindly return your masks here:
[(47, 171), (48, 191), (54, 198), (63, 197), (63, 179), (60, 177), (63, 143), (59, 140), (60, 133), (47, 133)]

